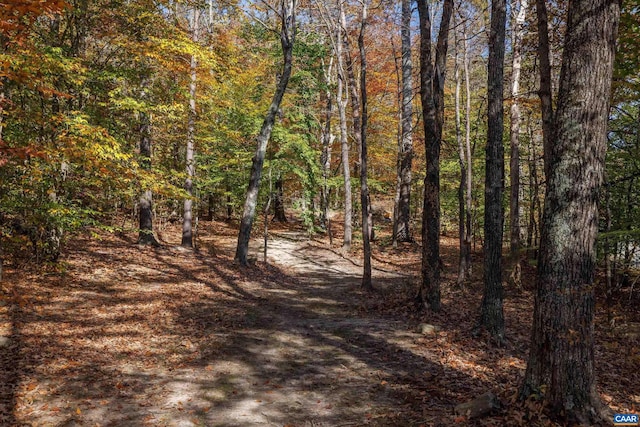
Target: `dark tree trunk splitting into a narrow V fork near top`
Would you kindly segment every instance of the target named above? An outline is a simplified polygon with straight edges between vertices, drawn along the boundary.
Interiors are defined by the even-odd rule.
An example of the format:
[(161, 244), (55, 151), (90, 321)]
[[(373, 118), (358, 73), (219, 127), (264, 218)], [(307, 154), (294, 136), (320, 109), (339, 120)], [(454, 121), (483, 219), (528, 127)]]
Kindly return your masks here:
[(444, 0), (435, 64), (431, 60), (431, 14), (427, 0), (418, 1), (420, 18), (420, 99), (427, 173), (422, 211), (422, 281), (418, 298), (440, 310), (440, 147), (444, 123), (444, 79), (453, 0)]

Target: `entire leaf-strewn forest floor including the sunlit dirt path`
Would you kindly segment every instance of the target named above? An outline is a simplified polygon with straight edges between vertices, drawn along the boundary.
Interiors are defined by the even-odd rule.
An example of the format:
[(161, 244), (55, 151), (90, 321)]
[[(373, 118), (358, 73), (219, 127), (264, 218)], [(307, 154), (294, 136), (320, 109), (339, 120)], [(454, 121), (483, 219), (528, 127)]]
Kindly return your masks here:
[[(199, 249), (177, 226), (159, 247), (133, 233), (73, 238), (56, 268), (9, 265), (0, 284), (2, 426), (549, 425), (513, 403), (526, 365), (534, 268), (507, 286), (507, 344), (472, 331), (482, 295), (455, 285), (457, 241), (443, 237), (443, 310), (415, 311), (420, 248), (374, 245), (374, 293), (351, 260), (297, 224), (272, 227), (233, 262), (237, 224), (201, 222)], [(357, 246), (357, 245), (356, 245)], [(598, 305), (599, 392), (640, 410), (638, 290), (612, 316)], [(613, 320), (611, 320), (613, 319)], [(417, 332), (421, 323), (440, 327)], [(503, 408), (466, 420), (455, 405), (487, 391)]]

